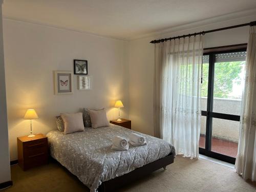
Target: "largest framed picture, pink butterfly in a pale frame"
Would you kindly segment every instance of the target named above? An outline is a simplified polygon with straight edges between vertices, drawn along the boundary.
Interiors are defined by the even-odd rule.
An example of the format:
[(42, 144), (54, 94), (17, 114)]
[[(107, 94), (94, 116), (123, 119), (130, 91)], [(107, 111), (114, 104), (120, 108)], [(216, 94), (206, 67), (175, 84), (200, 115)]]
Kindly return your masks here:
[(55, 94), (73, 93), (73, 75), (71, 71), (55, 71)]

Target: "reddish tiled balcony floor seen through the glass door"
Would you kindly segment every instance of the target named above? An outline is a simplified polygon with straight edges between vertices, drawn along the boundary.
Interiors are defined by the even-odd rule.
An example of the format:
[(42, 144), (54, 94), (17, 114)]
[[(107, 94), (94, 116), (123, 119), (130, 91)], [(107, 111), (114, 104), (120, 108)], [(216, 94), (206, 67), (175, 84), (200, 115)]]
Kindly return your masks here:
[[(199, 147), (205, 148), (205, 135), (200, 135)], [(218, 138), (212, 138), (211, 151), (231, 157), (236, 157), (238, 152), (238, 143)]]

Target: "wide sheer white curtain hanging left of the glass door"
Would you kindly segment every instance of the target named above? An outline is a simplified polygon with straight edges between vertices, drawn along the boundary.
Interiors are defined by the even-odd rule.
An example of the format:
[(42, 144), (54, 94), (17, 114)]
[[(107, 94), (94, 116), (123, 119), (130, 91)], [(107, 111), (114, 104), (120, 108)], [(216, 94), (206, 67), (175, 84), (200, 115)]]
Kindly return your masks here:
[(191, 158), (199, 155), (202, 57), (203, 36), (155, 44), (155, 136)]

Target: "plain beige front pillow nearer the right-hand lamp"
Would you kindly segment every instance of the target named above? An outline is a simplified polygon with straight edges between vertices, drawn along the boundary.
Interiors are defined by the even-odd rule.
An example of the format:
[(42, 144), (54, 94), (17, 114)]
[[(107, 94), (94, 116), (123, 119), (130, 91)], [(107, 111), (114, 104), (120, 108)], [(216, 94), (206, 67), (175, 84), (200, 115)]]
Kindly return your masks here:
[(106, 112), (102, 110), (89, 110), (92, 127), (98, 128), (102, 126), (110, 126), (108, 119), (106, 118)]

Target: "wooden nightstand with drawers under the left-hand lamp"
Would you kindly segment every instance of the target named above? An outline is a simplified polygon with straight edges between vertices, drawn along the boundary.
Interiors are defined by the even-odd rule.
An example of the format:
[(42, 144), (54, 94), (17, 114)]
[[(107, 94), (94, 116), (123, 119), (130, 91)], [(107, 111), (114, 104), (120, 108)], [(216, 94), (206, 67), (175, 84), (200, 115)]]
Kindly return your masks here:
[(18, 164), (23, 170), (48, 163), (48, 138), (43, 134), (17, 138)]

